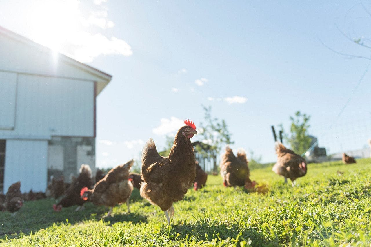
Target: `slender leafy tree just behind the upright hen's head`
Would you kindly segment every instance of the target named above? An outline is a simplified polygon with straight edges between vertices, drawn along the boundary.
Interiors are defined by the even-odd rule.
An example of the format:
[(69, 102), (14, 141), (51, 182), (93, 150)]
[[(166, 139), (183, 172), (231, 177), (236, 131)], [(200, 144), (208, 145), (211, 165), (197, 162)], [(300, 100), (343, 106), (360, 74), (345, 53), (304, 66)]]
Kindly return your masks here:
[[(224, 119), (211, 117), (211, 106), (202, 105), (205, 115), (205, 122), (200, 123), (199, 136), (202, 142), (208, 144), (208, 149), (205, 150), (201, 145), (196, 146), (196, 152), (200, 152), (203, 157), (212, 158), (218, 157), (223, 145), (233, 144), (230, 132), (228, 131), (226, 121)], [(217, 171), (217, 163), (214, 160), (214, 172)]]

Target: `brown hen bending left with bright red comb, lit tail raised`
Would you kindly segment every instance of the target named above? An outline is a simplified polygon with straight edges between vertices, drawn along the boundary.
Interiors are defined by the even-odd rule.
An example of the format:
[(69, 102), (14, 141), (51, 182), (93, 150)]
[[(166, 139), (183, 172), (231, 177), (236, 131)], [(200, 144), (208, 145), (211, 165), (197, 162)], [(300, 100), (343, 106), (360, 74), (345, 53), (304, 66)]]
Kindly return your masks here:
[(113, 207), (122, 202), (126, 202), (129, 208), (129, 197), (133, 191), (133, 185), (129, 181), (129, 170), (134, 164), (134, 159), (126, 164), (112, 168), (99, 182), (94, 185), (92, 190), (87, 187), (82, 188), (80, 194), (85, 201), (91, 201), (95, 205), (105, 205), (111, 207), (106, 217), (111, 215)]

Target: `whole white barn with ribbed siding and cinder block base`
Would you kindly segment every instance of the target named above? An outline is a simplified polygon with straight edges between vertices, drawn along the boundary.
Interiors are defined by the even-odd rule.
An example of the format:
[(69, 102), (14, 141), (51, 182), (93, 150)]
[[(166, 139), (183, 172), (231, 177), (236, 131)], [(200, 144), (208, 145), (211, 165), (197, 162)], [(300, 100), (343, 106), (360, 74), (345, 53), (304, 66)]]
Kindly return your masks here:
[(0, 27), (0, 192), (95, 171), (95, 99), (111, 76)]

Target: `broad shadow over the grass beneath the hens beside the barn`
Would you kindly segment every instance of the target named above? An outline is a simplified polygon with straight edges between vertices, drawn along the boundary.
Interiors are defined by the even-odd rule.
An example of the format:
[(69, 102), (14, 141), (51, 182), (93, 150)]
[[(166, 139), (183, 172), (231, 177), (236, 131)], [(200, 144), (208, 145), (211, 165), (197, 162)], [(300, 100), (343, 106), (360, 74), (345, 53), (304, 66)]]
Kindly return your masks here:
[[(138, 192), (139, 194), (139, 192)], [(140, 196), (140, 195), (139, 195)], [(131, 198), (131, 202), (137, 197)], [(142, 199), (141, 199), (142, 200)], [(108, 212), (108, 208), (104, 206), (95, 206), (91, 202), (85, 203), (85, 210), (75, 212), (77, 206), (63, 208), (60, 212), (53, 211), (54, 199), (42, 199), (37, 201), (26, 201), (23, 207), (12, 216), (9, 212), (0, 212), (0, 238), (14, 238), (20, 232), (29, 234), (31, 231), (35, 233), (40, 229), (45, 229), (52, 226), (54, 223), (59, 225), (65, 223), (75, 224), (84, 220), (99, 221)], [(121, 207), (126, 210), (126, 204)], [(121, 211), (121, 210), (119, 210)], [(114, 217), (108, 217), (104, 221), (110, 221), (114, 224), (119, 221), (147, 222), (144, 215), (135, 213), (116, 213)]]

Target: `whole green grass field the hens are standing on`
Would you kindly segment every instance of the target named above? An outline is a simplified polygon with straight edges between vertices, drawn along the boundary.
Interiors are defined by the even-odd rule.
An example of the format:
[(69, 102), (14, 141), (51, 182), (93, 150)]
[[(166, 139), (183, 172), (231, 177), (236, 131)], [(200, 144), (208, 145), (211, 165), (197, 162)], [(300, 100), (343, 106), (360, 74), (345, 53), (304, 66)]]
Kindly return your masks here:
[(91, 203), (55, 213), (51, 199), (27, 201), (14, 217), (0, 213), (0, 246), (370, 246), (371, 160), (308, 171), (292, 187), (270, 168), (253, 170), (267, 194), (224, 188), (209, 175), (204, 189), (175, 203), (170, 226), (136, 189), (132, 213), (122, 204), (105, 220), (107, 209)]

